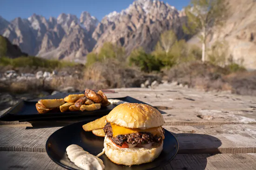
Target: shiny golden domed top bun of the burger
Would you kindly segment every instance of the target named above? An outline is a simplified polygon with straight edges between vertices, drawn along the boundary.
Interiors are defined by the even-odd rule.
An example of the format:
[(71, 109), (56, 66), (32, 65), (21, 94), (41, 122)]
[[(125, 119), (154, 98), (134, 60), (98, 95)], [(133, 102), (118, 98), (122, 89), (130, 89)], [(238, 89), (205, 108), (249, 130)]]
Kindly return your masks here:
[(162, 114), (152, 106), (138, 103), (124, 103), (108, 113), (107, 121), (128, 128), (151, 128), (162, 126)]

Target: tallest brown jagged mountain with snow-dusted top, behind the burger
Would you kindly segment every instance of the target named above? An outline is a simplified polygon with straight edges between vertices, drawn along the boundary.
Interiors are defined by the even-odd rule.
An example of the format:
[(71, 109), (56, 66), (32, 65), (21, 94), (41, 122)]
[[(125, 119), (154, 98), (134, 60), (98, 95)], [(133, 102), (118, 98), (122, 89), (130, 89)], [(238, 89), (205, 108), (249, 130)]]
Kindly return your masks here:
[[(128, 52), (138, 46), (154, 50), (160, 34), (173, 29), (178, 38), (184, 36), (179, 13), (175, 7), (158, 0), (136, 0), (121, 13), (108, 14), (97, 26), (93, 38), (97, 51), (105, 42), (117, 43)], [(111, 35), (111, 36), (109, 36)]]

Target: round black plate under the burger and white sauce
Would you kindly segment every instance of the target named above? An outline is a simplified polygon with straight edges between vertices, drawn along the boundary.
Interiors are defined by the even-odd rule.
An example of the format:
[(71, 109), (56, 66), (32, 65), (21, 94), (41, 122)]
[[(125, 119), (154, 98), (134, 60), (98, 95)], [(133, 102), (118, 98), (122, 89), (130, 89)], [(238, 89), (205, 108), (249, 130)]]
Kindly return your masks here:
[[(104, 148), (104, 138), (95, 136), (92, 132), (85, 132), (82, 125), (89, 121), (82, 121), (62, 127), (55, 131), (46, 142), (46, 151), (48, 156), (56, 163), (68, 170), (80, 170), (71, 163), (66, 155), (66, 148), (75, 144), (81, 146), (85, 151), (97, 155)], [(148, 170), (159, 169), (170, 162), (178, 152), (178, 141), (172, 133), (165, 130), (165, 139), (162, 153), (153, 162), (141, 165), (124, 166), (112, 163), (108, 157), (103, 154), (101, 160), (104, 162), (105, 170)]]

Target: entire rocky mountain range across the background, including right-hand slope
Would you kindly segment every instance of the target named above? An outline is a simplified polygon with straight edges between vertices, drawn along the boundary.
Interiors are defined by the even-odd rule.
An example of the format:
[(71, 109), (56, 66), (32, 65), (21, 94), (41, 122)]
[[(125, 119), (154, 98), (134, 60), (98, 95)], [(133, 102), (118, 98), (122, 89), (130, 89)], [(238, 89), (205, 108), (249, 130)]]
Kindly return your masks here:
[[(210, 41), (214, 41), (216, 37), (227, 39), (232, 37), (230, 40), (233, 43), (232, 47), (235, 46), (236, 51), (239, 51), (240, 47), (236, 44), (241, 44), (242, 39), (237, 38), (236, 34), (246, 31), (246, 36), (253, 36), (253, 40), (249, 39), (247, 43), (255, 49), (253, 23), (256, 23), (256, 15), (252, 10), (256, 3), (253, 0), (244, 0), (243, 3), (240, 0), (232, 0), (232, 3), (233, 1), (237, 6), (243, 4), (243, 8), (232, 9), (239, 10), (239, 15), (243, 14), (243, 16), (234, 13), (228, 23), (240, 25), (239, 30), (233, 25), (232, 30), (226, 31), (224, 36), (216, 31), (215, 37)], [(188, 40), (189, 36), (182, 31), (185, 18), (183, 11), (178, 11), (168, 3), (159, 0), (135, 0), (120, 13), (109, 13), (101, 22), (88, 12), (82, 12), (80, 18), (61, 13), (57, 18), (46, 19), (41, 15), (33, 14), (28, 19), (15, 18), (10, 22), (0, 17), (0, 34), (29, 55), (85, 63), (86, 55), (93, 50), (98, 51), (105, 42), (120, 44), (129, 53), (139, 46), (147, 52), (154, 50), (160, 34), (166, 30), (172, 29), (178, 39)], [(240, 24), (241, 20), (246, 21), (243, 22), (244, 26)], [(228, 28), (230, 25), (224, 30)], [(195, 43), (196, 40), (192, 38), (189, 42)], [(256, 69), (256, 54), (254, 52), (249, 55), (250, 58), (243, 57), (247, 63), (252, 63), (249, 67)], [(241, 55), (236, 55), (236, 58), (239, 57)]]

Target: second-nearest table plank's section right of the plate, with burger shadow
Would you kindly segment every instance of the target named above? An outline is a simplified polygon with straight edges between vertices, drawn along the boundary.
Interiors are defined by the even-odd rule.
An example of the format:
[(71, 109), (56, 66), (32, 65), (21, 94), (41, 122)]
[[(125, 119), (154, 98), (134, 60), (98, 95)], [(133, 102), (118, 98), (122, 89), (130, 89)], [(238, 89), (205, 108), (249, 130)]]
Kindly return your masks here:
[(179, 153), (256, 153), (256, 125), (163, 127), (179, 141)]

